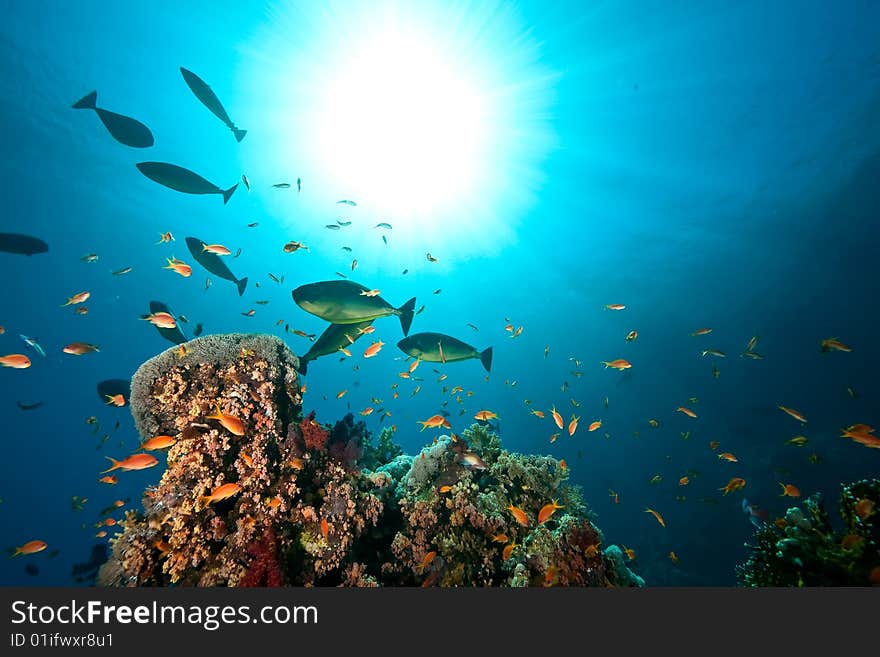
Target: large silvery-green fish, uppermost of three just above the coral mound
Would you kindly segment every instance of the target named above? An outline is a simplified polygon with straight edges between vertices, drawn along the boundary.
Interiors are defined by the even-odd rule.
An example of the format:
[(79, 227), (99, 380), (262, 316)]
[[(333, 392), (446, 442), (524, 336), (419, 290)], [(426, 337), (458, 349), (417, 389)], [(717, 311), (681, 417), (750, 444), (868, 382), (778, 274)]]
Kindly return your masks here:
[(395, 308), (380, 296), (361, 294), (369, 291), (370, 288), (351, 280), (322, 281), (301, 285), (292, 295), (300, 308), (333, 324), (357, 324), (397, 315), (403, 334), (409, 333), (416, 298)]

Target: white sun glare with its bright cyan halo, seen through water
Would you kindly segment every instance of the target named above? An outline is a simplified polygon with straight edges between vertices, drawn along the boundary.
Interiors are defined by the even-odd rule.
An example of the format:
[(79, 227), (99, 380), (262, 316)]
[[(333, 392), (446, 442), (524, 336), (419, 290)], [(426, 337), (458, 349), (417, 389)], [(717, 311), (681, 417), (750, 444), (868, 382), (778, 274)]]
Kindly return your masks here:
[(270, 210), (328, 250), (342, 234), (324, 225), (351, 220), (359, 254), (497, 253), (517, 239), (555, 146), (558, 76), (526, 25), (510, 3), (273, 6), (242, 47), (247, 97), (262, 101), (248, 120), (271, 135), (243, 166), (302, 175), (295, 214), (282, 196)]

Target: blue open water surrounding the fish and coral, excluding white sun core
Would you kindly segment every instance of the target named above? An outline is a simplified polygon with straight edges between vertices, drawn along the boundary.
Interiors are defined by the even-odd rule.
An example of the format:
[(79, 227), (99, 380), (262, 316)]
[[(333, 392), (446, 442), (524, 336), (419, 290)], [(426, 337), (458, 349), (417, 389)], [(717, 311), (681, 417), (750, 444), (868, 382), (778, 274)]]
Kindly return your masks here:
[[(333, 160), (346, 153), (318, 153), (313, 139), (320, 108), (311, 91), (323, 59), (356, 49), (388, 21), (388, 7), (81, 2), (45, 11), (4, 3), (0, 232), (34, 235), (49, 251), (0, 252), (0, 355), (26, 353), (33, 363), (0, 369), (0, 524), (4, 547), (39, 538), (49, 548), (2, 560), (0, 583), (72, 584), (71, 568), (99, 541), (99, 511), (116, 499), (136, 506), (160, 476), (152, 469), (119, 473), (116, 486), (97, 481), (105, 457), (131, 453), (138, 437), (128, 408), (104, 404), (95, 384), (130, 377), (170, 346), (139, 319), (150, 300), (186, 315), (187, 335), (196, 322), (206, 333), (267, 332), (302, 354), (310, 343), (278, 320), (307, 333), (325, 324), (290, 291), (337, 271), (395, 304), (416, 296), (425, 309), (413, 331), (492, 346), (492, 372), (486, 380), (477, 361), (447, 364), (440, 383), (422, 363), (413, 394), (416, 384), (398, 377), (400, 326), (382, 319), (370, 336), (385, 342), (378, 357), (356, 351), (310, 364), (305, 410), (331, 422), (383, 398), (393, 412), (385, 422), (397, 425), (411, 453), (433, 437), (417, 421), (444, 401), (454, 430), (478, 410), (495, 411), (508, 449), (567, 461), (606, 542), (634, 549), (633, 567), (649, 585), (734, 584), (753, 531), (743, 494), (776, 517), (788, 502), (780, 482), (822, 492), (834, 506), (841, 482), (876, 476), (880, 454), (841, 439), (839, 429), (880, 422), (880, 6), (397, 5), (400, 25), (430, 23), (447, 43), (459, 34), (476, 41), (465, 50), (487, 60), (475, 69), (499, 76), (486, 84), (495, 85), (506, 121), (487, 137), (474, 174), (485, 186), (459, 200), (447, 193), (450, 169), (407, 206), (387, 197), (393, 180), (371, 197), (357, 176), (335, 177)], [(193, 96), (180, 66), (208, 81), (248, 130), (241, 143)], [(94, 112), (71, 108), (93, 89), (99, 107), (148, 125), (155, 145), (124, 146)], [(252, 190), (240, 185), (227, 205), (180, 194), (134, 166), (149, 160), (192, 168), (224, 189), (245, 173)], [(364, 179), (374, 175), (363, 171)], [(271, 187), (277, 182), (293, 187)], [(361, 203), (337, 205), (345, 198)], [(325, 228), (338, 220), (352, 224)], [(383, 220), (394, 225), (388, 244), (373, 228)], [(165, 231), (176, 241), (157, 245)], [(249, 277), (243, 297), (192, 262), (183, 242), (191, 235), (241, 248), (228, 263)], [(289, 240), (310, 249), (286, 254)], [(83, 262), (89, 253), (98, 260)], [(174, 256), (193, 265), (191, 277), (163, 269)], [(131, 273), (111, 274), (123, 267)], [(59, 307), (85, 290), (87, 315)], [(605, 309), (615, 303), (626, 308)], [(254, 316), (243, 316), (250, 309)], [(507, 324), (522, 334), (512, 338)], [(713, 331), (692, 336), (700, 327)], [(627, 342), (631, 330), (638, 338)], [(19, 334), (35, 338), (46, 357), (26, 351)], [(755, 335), (763, 360), (740, 356)], [(852, 352), (820, 354), (829, 337)], [(100, 351), (62, 353), (75, 341)], [(727, 357), (703, 357), (706, 348)], [(616, 358), (632, 368), (601, 364)], [(473, 391), (464, 415), (444, 384)], [(342, 389), (348, 393), (337, 399)], [(18, 401), (43, 405), (24, 411)], [(574, 436), (563, 432), (551, 444), (554, 405), (566, 421), (573, 413), (581, 421)], [(802, 411), (808, 423), (778, 405)], [(532, 415), (535, 408), (547, 417)], [(97, 433), (89, 416), (98, 418)], [(599, 430), (586, 431), (600, 419)], [(381, 426), (376, 416), (367, 421)], [(797, 435), (809, 443), (785, 444)], [(738, 462), (720, 461), (721, 451)], [(697, 474), (680, 486), (688, 471)], [(661, 480), (652, 485), (655, 475)], [(746, 488), (724, 496), (718, 489), (731, 477), (743, 477)], [(75, 495), (88, 498), (82, 511), (71, 507)], [(665, 528), (646, 507), (662, 513)], [(28, 564), (39, 573), (27, 573)]]

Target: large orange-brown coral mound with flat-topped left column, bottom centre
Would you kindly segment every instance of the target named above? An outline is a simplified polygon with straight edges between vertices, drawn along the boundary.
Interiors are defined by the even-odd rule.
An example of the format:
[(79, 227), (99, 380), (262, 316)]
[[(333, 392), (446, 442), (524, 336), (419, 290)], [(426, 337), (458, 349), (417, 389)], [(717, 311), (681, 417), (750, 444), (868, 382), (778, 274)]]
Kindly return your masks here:
[(603, 552), (556, 459), (509, 453), (486, 424), (416, 457), (390, 428), (373, 445), (351, 414), (333, 426), (303, 416), (296, 367), (282, 341), (233, 334), (139, 368), (141, 436), (177, 442), (143, 511), (122, 521), (100, 583), (642, 584)]

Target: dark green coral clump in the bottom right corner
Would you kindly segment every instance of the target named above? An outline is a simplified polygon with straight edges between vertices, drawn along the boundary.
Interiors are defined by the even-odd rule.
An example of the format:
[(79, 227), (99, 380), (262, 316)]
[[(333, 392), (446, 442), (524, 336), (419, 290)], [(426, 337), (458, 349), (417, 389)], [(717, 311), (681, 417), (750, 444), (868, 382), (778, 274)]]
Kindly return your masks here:
[(748, 560), (736, 568), (744, 586), (869, 586), (880, 584), (880, 479), (844, 485), (835, 531), (822, 496), (792, 507), (755, 533)]

